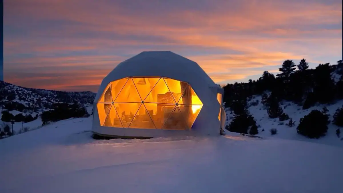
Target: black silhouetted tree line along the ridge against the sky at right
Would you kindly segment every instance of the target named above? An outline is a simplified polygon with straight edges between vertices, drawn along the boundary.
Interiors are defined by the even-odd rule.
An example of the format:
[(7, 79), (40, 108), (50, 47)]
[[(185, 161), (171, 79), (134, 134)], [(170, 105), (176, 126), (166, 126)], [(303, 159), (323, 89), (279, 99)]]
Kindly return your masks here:
[(248, 83), (227, 84), (224, 89), (225, 107), (233, 107), (236, 101), (245, 100), (252, 95), (262, 95), (270, 91), (278, 101), (293, 101), (308, 109), (316, 103), (330, 104), (343, 99), (343, 78), (335, 83), (331, 73), (337, 71), (343, 74), (342, 64), (319, 64), (315, 69), (309, 69), (305, 59), (295, 65), (292, 60), (285, 60), (280, 73), (264, 71), (258, 80)]

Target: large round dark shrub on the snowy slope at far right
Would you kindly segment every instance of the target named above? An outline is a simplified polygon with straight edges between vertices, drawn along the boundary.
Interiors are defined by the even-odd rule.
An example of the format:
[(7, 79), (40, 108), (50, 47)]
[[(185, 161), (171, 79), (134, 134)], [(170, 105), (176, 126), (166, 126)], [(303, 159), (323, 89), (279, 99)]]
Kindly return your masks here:
[(308, 138), (320, 138), (328, 131), (329, 116), (318, 110), (311, 111), (308, 115), (300, 118), (297, 133)]

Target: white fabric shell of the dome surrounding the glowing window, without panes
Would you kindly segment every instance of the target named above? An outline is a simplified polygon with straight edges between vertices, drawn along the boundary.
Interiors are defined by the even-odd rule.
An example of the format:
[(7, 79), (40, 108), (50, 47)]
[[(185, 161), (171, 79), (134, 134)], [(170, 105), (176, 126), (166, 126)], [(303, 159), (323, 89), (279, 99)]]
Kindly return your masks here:
[[(145, 77), (146, 78), (148, 77), (160, 78), (161, 82), (163, 79), (163, 82), (165, 82), (166, 84), (168, 84), (167, 83), (168, 79), (174, 79), (175, 81), (177, 80), (179, 82), (185, 82), (186, 84), (188, 83), (188, 85), (192, 89), (192, 92), (194, 93), (193, 95), (196, 95), (202, 103), (202, 108), (200, 112), (198, 112), (199, 114), (197, 115), (195, 122), (192, 124), (192, 127), (189, 129), (179, 130), (179, 129), (163, 129), (163, 128), (157, 128), (157, 127), (156, 129), (135, 128), (135, 127), (123, 128), (122, 127), (123, 124), (120, 124), (120, 127), (118, 128), (113, 127), (113, 126), (107, 127), (107, 126), (102, 125), (103, 121), (102, 122), (100, 121), (101, 116), (98, 112), (97, 105), (98, 106), (103, 105), (100, 103), (102, 103), (101, 98), (103, 97), (106, 89), (108, 89), (109, 85), (111, 85), (113, 82), (118, 81), (120, 79), (126, 79), (126, 78), (130, 79), (130, 81), (132, 82), (135, 82), (135, 83), (132, 83), (134, 85), (132, 86), (132, 88), (138, 88), (138, 84), (139, 84), (138, 77), (143, 78), (143, 80), (141, 81), (142, 83), (145, 82), (144, 81)], [(157, 84), (156, 84), (156, 87), (157, 87)], [(120, 90), (120, 89), (117, 89), (117, 90)], [(114, 95), (115, 92), (114, 91), (112, 92)], [(173, 92), (170, 92), (170, 93), (173, 93)], [(161, 93), (161, 94), (158, 93), (158, 95), (162, 95), (162, 94), (164, 93)], [(175, 93), (173, 94), (175, 96)], [(92, 130), (95, 134), (98, 134), (98, 135), (128, 136), (128, 137), (159, 137), (159, 136), (175, 136), (175, 135), (178, 135), (178, 136), (180, 135), (181, 136), (219, 135), (219, 129), (222, 126), (221, 123), (225, 122), (225, 120), (223, 120), (223, 116), (221, 116), (222, 115), (221, 114), (222, 94), (223, 94), (223, 89), (220, 86), (218, 86), (216, 83), (214, 83), (213, 80), (204, 72), (204, 70), (196, 62), (189, 60), (185, 57), (182, 57), (180, 55), (177, 55), (173, 52), (169, 52), (169, 51), (142, 52), (118, 64), (117, 67), (115, 67), (103, 79), (99, 87), (98, 93), (96, 95), (96, 98), (94, 100), (94, 107), (93, 107), (94, 114), (93, 114)], [(116, 101), (115, 101), (116, 97), (117, 96), (111, 96), (113, 100), (109, 102), (112, 102), (113, 104), (109, 106), (116, 106)], [(147, 103), (144, 103), (144, 99), (142, 96), (141, 98), (142, 98), (141, 101), (137, 101), (137, 102), (142, 102), (140, 106), (148, 106)], [(179, 101), (182, 101), (182, 99)], [(176, 109), (181, 109), (181, 106), (178, 105), (179, 101), (176, 101), (174, 104), (176, 105)], [(125, 101), (119, 101), (119, 102), (125, 102)], [(118, 107), (114, 107), (113, 109), (118, 110), (119, 106), (123, 105), (123, 104), (120, 104), (119, 102), (117, 102)], [(146, 100), (145, 102), (153, 102), (153, 101)], [(164, 107), (165, 109), (167, 109), (166, 106)], [(161, 112), (160, 109), (161, 108), (159, 108), (159, 111)], [(106, 112), (108, 113), (109, 111), (110, 110)], [(142, 112), (144, 111), (146, 112), (149, 111), (149, 108), (148, 107), (144, 108)], [(156, 112), (156, 107), (155, 107), (154, 112)], [(120, 112), (115, 112), (114, 110), (114, 114), (116, 114), (116, 117), (120, 117)], [(152, 117), (152, 116), (149, 116), (149, 117)], [(135, 119), (136, 117), (131, 116), (131, 118)], [(123, 123), (124, 122), (123, 119), (120, 122)]]

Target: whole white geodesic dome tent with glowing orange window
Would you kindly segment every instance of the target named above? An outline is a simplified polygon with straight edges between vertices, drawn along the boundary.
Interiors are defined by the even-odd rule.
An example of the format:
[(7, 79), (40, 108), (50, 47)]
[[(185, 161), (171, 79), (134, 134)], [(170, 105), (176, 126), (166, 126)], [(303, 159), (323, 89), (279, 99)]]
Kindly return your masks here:
[(102, 81), (92, 131), (120, 138), (218, 135), (223, 89), (194, 61), (172, 52), (142, 52)]

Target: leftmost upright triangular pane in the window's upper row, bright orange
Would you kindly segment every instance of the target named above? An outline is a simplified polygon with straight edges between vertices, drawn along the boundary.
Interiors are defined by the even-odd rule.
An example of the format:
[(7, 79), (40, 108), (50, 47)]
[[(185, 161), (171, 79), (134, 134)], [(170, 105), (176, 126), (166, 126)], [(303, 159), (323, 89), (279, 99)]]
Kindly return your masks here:
[(114, 101), (115, 103), (142, 102), (132, 79), (130, 78)]

